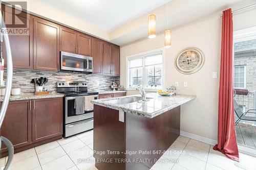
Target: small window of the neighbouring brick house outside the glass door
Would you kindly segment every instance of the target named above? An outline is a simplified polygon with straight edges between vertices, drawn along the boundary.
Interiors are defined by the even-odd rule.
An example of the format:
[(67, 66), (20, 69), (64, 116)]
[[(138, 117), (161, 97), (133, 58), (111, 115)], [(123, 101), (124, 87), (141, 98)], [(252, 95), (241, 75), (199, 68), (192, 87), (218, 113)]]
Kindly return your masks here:
[(234, 88), (246, 88), (245, 65), (234, 66)]

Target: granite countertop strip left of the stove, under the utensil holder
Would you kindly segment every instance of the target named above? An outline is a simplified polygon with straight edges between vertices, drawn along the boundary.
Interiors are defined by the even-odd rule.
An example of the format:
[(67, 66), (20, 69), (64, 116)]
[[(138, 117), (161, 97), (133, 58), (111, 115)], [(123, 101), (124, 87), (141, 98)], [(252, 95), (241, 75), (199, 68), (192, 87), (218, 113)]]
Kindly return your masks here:
[[(10, 101), (19, 101), (19, 100), (30, 100), (30, 99), (46, 99), (46, 98), (61, 98), (64, 95), (61, 93), (49, 93), (44, 95), (35, 95), (35, 94), (20, 94), (20, 95), (11, 95)], [(0, 102), (3, 102), (4, 96), (0, 96)]]

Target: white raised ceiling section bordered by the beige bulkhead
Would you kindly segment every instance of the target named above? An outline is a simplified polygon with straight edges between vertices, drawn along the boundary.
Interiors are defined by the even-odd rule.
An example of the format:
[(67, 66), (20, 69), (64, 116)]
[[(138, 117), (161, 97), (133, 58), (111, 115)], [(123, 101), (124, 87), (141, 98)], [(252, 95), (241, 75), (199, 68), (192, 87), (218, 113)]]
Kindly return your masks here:
[(38, 0), (62, 12), (80, 18), (105, 31), (146, 14), (171, 0)]

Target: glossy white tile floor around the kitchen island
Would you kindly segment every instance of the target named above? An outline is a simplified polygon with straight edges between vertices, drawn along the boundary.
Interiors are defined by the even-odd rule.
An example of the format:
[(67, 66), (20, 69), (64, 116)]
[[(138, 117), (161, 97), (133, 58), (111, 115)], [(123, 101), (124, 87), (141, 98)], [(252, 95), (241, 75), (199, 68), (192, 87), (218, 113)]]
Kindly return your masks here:
[[(97, 170), (92, 149), (93, 131), (88, 131), (17, 153), (10, 170)], [(0, 159), (0, 167), (4, 167), (7, 159)], [(240, 163), (234, 162), (209, 144), (180, 136), (151, 169), (255, 170), (255, 162), (255, 157), (245, 154), (240, 154)]]

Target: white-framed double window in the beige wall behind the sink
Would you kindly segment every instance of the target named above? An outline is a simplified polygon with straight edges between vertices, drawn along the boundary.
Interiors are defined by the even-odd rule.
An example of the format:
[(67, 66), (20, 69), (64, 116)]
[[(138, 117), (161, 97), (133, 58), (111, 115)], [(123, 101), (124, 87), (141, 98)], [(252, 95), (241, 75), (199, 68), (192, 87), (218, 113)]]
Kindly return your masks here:
[(162, 50), (127, 57), (127, 87), (161, 89), (162, 84)]

